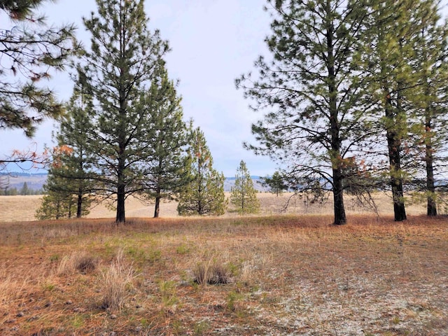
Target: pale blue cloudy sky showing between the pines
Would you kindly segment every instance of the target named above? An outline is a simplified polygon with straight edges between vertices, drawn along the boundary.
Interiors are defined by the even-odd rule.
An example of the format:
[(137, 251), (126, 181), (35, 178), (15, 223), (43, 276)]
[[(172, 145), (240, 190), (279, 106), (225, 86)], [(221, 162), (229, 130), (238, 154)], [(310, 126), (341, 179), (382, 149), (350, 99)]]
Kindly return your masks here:
[[(251, 175), (272, 175), (276, 164), (255, 156), (242, 143), (253, 143), (251, 124), (262, 118), (248, 108), (250, 101), (235, 88), (235, 78), (255, 71), (259, 55), (269, 55), (264, 39), (269, 34), (269, 13), (265, 0), (146, 0), (149, 28), (160, 30), (169, 41), (171, 52), (165, 57), (173, 80), (179, 80), (185, 119), (193, 118), (207, 139), (214, 167), (225, 176), (235, 176), (244, 160)], [(94, 0), (48, 1), (40, 10), (48, 25), (73, 22), (77, 36), (88, 48), (90, 34), (82, 18), (96, 11)], [(69, 99), (73, 84), (66, 73), (52, 72), (48, 86), (58, 99)], [(0, 132), (0, 155), (13, 149), (41, 151), (53, 146), (51, 120), (38, 127), (33, 139), (22, 131)]]

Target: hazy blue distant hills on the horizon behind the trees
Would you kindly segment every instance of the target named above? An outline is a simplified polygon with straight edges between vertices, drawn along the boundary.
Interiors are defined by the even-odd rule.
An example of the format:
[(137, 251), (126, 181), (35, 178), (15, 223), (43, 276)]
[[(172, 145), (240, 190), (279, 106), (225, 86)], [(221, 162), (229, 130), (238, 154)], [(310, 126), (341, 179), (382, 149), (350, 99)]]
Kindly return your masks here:
[[(0, 177), (2, 174), (0, 174)], [(43, 185), (47, 181), (47, 173), (38, 173), (38, 174), (30, 174), (30, 173), (11, 173), (9, 176), (5, 176), (5, 179), (8, 179), (8, 188), (17, 188), (20, 190), (22, 188), (23, 183), (27, 182), (28, 188), (33, 190), (42, 189)], [(253, 181), (253, 186), (258, 191), (266, 191), (266, 188), (261, 186), (261, 177), (260, 176), (251, 176)], [(224, 191), (230, 192), (232, 186), (235, 186), (235, 177), (226, 177), (224, 181)]]

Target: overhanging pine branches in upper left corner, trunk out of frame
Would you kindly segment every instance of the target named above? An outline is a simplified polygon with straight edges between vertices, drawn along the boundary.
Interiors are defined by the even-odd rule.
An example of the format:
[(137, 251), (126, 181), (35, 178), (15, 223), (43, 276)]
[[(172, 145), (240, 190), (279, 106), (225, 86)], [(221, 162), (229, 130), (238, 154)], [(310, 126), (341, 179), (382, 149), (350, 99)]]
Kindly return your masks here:
[(62, 112), (53, 92), (36, 83), (49, 78), (50, 69), (62, 70), (74, 46), (73, 25), (49, 28), (36, 16), (44, 2), (0, 2), (0, 13), (14, 24), (0, 29), (0, 129), (21, 129), (28, 137), (44, 118)]

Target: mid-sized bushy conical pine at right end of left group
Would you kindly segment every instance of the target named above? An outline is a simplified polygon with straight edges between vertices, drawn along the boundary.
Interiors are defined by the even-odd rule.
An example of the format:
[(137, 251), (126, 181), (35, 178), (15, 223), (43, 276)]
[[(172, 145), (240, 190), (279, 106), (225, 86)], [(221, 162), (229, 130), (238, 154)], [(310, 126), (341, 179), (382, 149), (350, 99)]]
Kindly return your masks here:
[(204, 133), (193, 131), (189, 148), (192, 181), (181, 191), (177, 211), (181, 216), (223, 215), (225, 213), (224, 174), (213, 168), (213, 158)]

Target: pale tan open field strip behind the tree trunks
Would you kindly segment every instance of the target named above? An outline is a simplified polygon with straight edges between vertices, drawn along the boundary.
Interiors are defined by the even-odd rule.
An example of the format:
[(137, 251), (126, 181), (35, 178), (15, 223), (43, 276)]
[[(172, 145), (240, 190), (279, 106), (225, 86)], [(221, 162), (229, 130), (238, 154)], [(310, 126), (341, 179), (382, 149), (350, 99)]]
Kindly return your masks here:
[[(261, 215), (286, 214), (332, 214), (332, 202), (328, 200), (323, 204), (311, 202), (305, 203), (303, 198), (292, 197), (293, 194), (272, 195), (270, 193), (258, 193), (257, 197), (261, 203)], [(230, 193), (226, 193), (230, 197)], [(36, 209), (41, 204), (42, 196), (0, 196), (0, 221), (34, 221)], [(284, 206), (289, 200), (286, 212)], [(380, 216), (393, 214), (391, 198), (382, 193), (375, 195)], [(360, 206), (353, 197), (345, 197), (347, 214), (372, 214), (371, 209)], [(178, 217), (177, 202), (162, 202), (160, 206), (160, 217)], [(154, 205), (150, 202), (141, 202), (134, 197), (130, 197), (126, 202), (127, 218), (148, 218), (153, 217)], [(411, 216), (426, 214), (424, 204), (413, 204), (407, 207), (407, 214)], [(116, 212), (106, 207), (105, 203), (98, 204), (91, 209), (87, 218), (115, 218)], [(236, 214), (228, 212), (225, 217), (235, 217)]]

